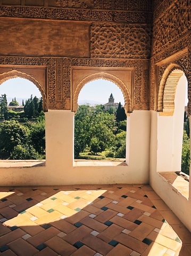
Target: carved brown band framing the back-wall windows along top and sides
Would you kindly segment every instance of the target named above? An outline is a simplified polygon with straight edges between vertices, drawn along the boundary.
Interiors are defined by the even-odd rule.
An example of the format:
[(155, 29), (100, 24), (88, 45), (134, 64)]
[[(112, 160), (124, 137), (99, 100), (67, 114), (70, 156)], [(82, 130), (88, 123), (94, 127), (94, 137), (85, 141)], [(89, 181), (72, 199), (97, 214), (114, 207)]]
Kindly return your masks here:
[(148, 102), (142, 103), (146, 95), (143, 87), (143, 60), (85, 59), (85, 58), (46, 58), (46, 57), (0, 57), (0, 65), (47, 66), (48, 109), (70, 109), (71, 66), (90, 67), (134, 67), (135, 99), (134, 110), (148, 110)]

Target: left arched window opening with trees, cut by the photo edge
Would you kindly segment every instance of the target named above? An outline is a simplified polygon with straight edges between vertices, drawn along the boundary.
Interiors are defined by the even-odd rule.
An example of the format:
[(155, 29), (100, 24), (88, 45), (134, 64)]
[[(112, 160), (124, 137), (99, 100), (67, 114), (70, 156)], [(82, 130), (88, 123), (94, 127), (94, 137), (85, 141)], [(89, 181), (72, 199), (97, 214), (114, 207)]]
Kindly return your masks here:
[(43, 98), (21, 77), (0, 85), (0, 159), (45, 159)]

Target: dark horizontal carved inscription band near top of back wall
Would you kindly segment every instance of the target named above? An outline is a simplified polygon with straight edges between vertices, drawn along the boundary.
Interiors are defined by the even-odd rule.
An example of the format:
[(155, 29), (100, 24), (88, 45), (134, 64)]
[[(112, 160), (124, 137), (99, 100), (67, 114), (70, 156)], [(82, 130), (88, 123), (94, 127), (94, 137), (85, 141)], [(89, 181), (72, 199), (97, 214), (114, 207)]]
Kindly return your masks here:
[(66, 9), (62, 7), (0, 6), (0, 17), (114, 21), (152, 23), (152, 13), (143, 11), (110, 11), (92, 9)]

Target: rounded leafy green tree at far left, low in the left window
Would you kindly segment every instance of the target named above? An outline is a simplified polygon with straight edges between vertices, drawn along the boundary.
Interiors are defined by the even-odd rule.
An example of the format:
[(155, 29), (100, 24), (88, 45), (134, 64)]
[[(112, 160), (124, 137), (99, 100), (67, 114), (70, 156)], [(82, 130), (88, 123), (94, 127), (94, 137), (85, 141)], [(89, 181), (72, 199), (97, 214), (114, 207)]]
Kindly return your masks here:
[(27, 143), (28, 129), (18, 121), (4, 121), (0, 127), (0, 150), (10, 154), (14, 146)]

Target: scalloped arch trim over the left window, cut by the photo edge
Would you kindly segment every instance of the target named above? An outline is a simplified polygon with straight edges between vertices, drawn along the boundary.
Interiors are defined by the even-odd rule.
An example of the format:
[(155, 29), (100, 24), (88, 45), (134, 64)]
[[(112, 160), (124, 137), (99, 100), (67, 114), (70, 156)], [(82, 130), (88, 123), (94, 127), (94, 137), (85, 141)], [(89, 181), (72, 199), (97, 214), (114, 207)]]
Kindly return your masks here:
[(15, 77), (21, 77), (21, 78), (27, 79), (35, 84), (35, 86), (39, 89), (39, 91), (43, 97), (43, 111), (47, 112), (48, 108), (47, 108), (47, 98), (46, 98), (45, 91), (44, 91), (43, 87), (41, 86), (41, 84), (35, 79), (35, 77), (32, 77), (31, 75), (28, 75), (27, 73), (12, 70), (12, 71), (0, 74), (0, 85), (3, 82), (5, 82), (6, 80), (9, 80), (9, 79), (12, 79)]

